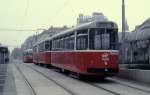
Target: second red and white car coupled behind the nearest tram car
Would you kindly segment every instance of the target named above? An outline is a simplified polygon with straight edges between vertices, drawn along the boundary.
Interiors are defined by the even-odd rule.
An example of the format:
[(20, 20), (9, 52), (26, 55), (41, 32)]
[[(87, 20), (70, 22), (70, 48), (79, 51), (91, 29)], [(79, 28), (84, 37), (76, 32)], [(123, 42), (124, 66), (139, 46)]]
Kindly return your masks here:
[(51, 66), (51, 41), (48, 38), (40, 40), (33, 47), (33, 62), (34, 64)]

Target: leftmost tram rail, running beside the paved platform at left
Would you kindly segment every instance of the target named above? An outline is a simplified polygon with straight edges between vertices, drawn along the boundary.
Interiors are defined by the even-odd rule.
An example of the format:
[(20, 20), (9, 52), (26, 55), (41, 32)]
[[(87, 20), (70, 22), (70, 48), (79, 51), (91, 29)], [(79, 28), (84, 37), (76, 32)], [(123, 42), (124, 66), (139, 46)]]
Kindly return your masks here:
[(29, 88), (30, 92), (32, 95), (37, 95), (36, 91), (34, 90), (34, 88), (32, 87), (31, 83), (28, 81), (28, 79), (26, 78), (26, 76), (23, 74), (23, 72), (21, 71), (20, 67), (18, 65), (16, 65), (15, 63), (15, 67), (18, 70), (18, 72), (21, 74), (25, 84), (27, 85), (27, 87)]

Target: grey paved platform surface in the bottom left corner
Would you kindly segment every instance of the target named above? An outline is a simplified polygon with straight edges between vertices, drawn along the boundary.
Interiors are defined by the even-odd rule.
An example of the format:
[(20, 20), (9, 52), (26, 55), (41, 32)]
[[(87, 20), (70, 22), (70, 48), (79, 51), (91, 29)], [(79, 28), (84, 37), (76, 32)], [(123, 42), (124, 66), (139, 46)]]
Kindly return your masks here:
[(0, 64), (0, 95), (17, 95), (12, 64)]

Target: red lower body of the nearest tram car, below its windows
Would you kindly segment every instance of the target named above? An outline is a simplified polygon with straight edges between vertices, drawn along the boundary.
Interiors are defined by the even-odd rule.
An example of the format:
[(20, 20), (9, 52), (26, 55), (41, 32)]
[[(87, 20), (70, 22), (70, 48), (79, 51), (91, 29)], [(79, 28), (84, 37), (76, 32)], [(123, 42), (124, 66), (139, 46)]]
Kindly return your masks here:
[[(58, 60), (59, 59), (59, 60)], [(53, 66), (86, 75), (114, 75), (118, 72), (118, 52), (52, 52)]]

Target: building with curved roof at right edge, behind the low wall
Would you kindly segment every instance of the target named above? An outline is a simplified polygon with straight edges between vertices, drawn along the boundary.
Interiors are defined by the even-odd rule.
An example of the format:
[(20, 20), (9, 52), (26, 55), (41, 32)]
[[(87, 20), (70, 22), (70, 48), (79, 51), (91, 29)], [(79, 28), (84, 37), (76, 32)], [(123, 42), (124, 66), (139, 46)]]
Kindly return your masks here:
[(150, 63), (150, 18), (126, 34), (125, 48), (126, 63)]

